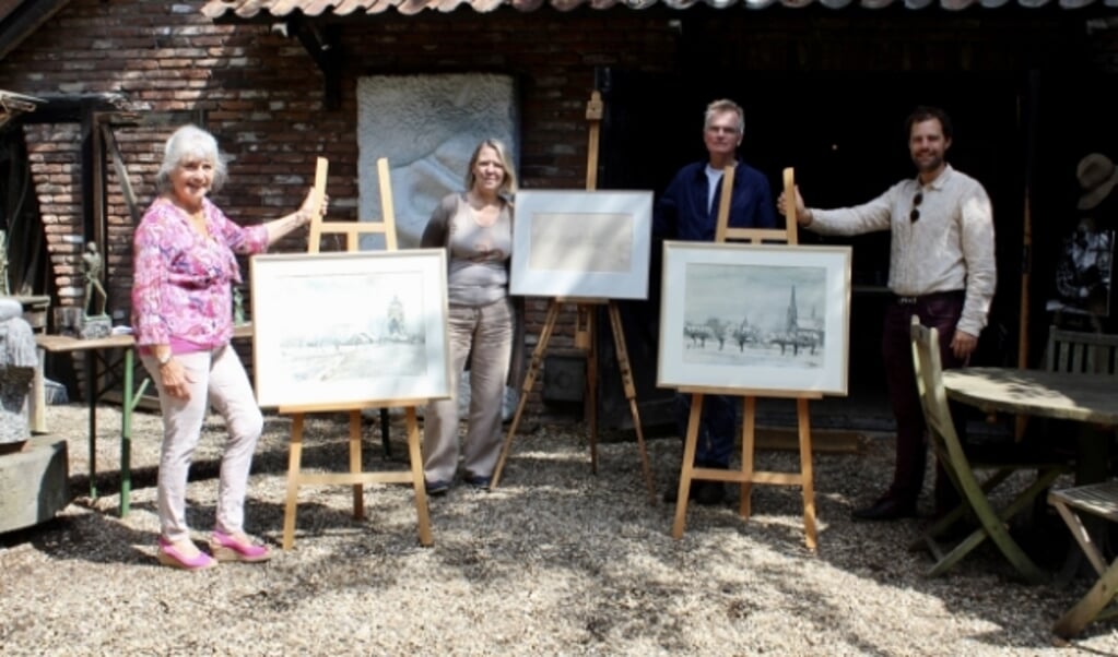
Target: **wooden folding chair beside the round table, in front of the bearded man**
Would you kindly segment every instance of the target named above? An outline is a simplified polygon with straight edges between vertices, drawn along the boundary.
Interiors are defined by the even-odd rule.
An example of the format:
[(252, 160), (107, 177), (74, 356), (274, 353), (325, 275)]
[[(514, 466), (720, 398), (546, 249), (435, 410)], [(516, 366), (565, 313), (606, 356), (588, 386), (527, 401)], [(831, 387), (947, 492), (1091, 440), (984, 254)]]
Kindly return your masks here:
[[(1033, 563), (1032, 559), (1010, 536), (1006, 527), (1010, 518), (1027, 508), (1052, 482), (1068, 470), (1064, 464), (1016, 463), (1003, 459), (972, 459), (963, 450), (955, 423), (947, 406), (944, 391), (942, 365), (939, 359), (939, 336), (935, 328), (921, 326), (913, 318), (912, 359), (916, 366), (920, 404), (928, 423), (928, 437), (936, 457), (959, 492), (963, 503), (925, 532), (922, 541), (936, 559), (928, 571), (929, 577), (940, 575), (958, 563), (964, 556), (989, 539), (1026, 580), (1041, 582), (1048, 575)], [(975, 470), (993, 470), (982, 482)], [(1017, 470), (1036, 470), (1036, 478), (1020, 492), (1007, 505), (996, 510), (989, 494)], [(964, 516), (974, 516), (979, 526), (954, 545), (945, 546), (939, 537)]]

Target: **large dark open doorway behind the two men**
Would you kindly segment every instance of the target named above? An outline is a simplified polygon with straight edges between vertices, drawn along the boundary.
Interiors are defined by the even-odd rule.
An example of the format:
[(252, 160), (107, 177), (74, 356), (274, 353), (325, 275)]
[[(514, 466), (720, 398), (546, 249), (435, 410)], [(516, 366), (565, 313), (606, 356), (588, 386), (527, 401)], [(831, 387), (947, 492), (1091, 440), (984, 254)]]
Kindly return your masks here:
[[(1017, 77), (935, 73), (741, 73), (684, 78), (610, 70), (599, 75), (606, 103), (601, 139), (601, 188), (651, 189), (657, 196), (683, 164), (705, 156), (705, 105), (720, 97), (746, 111), (740, 150), (769, 178), (774, 196), (781, 170), (794, 166), (809, 204), (843, 207), (870, 201), (898, 180), (915, 175), (904, 118), (921, 104), (947, 110), (955, 123), (948, 161), (978, 179), (995, 207), (998, 293), (977, 363), (1013, 364), (1017, 310), (1025, 134), (1018, 103), (1025, 80)], [(726, 80), (731, 80), (727, 83)], [(797, 102), (789, 102), (789, 98)], [(853, 249), (850, 400), (889, 416), (881, 363), (881, 317), (888, 301), (889, 234), (822, 238), (800, 232), (805, 245), (850, 245)], [(656, 249), (654, 248), (654, 251)], [(655, 388), (660, 313), (660, 254), (653, 254), (647, 302), (622, 303), (626, 344), (633, 361), (642, 421), (672, 422), (671, 391)], [(598, 322), (603, 426), (628, 427), (628, 408), (617, 381), (606, 317)], [(846, 413), (844, 413), (846, 415)]]

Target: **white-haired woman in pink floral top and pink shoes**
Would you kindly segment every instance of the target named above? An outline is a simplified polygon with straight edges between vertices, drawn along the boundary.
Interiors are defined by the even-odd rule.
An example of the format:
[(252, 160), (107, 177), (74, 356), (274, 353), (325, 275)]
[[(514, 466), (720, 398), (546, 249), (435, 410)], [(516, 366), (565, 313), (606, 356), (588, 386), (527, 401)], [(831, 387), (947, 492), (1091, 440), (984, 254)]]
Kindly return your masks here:
[[(193, 125), (180, 127), (168, 140), (157, 174), (160, 196), (133, 239), (132, 325), (163, 412), (158, 556), (160, 563), (188, 570), (269, 556), (243, 526), (248, 472), (264, 418), (229, 346), (231, 286), (240, 283), (235, 254), (260, 253), (313, 215), (307, 194), (296, 212), (238, 226), (207, 198), (225, 179), (214, 136)], [(212, 556), (190, 540), (186, 520), (187, 473), (211, 404), (229, 430), (209, 541)]]

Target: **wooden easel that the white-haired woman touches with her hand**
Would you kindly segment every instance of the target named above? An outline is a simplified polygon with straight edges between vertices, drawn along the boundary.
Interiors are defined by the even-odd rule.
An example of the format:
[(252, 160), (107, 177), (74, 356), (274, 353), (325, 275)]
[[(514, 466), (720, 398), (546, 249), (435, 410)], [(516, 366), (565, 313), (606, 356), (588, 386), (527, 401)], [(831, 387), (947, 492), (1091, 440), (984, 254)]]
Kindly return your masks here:
[[(359, 239), (366, 234), (385, 236), (388, 250), (396, 249), (396, 220), (392, 209), (392, 188), (388, 178), (388, 160), (377, 160), (377, 173), (380, 180), (381, 221), (323, 221), (321, 212), (314, 213), (307, 237), (307, 253), (320, 251), (320, 240), (323, 234), (345, 235), (345, 248), (359, 250)], [(326, 189), (326, 160), (319, 158), (314, 175), (315, 207), (321, 208)], [(424, 488), (423, 457), (419, 454), (419, 422), (416, 419), (416, 407), (426, 400), (370, 400), (369, 403), (343, 407), (318, 404), (282, 407), (281, 413), (292, 416), (291, 455), (287, 461), (287, 503), (283, 520), (283, 549), (291, 550), (295, 541), (295, 512), (299, 504), (299, 487), (304, 484), (351, 484), (353, 486), (353, 517), (364, 516), (364, 484), (411, 484), (416, 494), (416, 513), (419, 516), (419, 543), (432, 544), (430, 518), (427, 514), (427, 492)], [(404, 407), (406, 410), (408, 458), (411, 468), (408, 472), (388, 470), (366, 473), (361, 470), (361, 410), (364, 408)], [(303, 473), (303, 420), (311, 412), (349, 413), (349, 447), (350, 472), (348, 473)]]

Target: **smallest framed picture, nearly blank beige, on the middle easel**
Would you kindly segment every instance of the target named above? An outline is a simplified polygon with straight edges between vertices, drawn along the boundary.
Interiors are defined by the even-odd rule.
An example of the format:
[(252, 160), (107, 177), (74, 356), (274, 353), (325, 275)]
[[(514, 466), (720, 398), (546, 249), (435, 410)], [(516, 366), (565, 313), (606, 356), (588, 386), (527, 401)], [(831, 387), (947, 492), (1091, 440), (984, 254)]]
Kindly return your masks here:
[(520, 191), (510, 293), (647, 298), (652, 198), (651, 191)]

